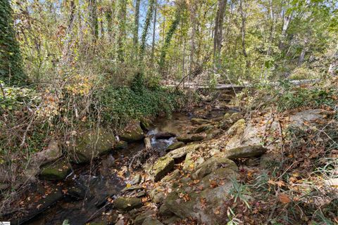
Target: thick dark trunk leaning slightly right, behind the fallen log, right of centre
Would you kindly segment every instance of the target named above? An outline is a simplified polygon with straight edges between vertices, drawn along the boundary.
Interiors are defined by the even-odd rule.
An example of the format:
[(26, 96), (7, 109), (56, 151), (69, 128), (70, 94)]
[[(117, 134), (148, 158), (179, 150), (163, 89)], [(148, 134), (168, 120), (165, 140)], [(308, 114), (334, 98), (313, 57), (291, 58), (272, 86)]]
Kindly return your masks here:
[(213, 58), (215, 63), (218, 64), (220, 58), (220, 50), (222, 49), (223, 40), (223, 20), (225, 14), (225, 8), (227, 6), (227, 0), (218, 0), (218, 9), (215, 18), (215, 29), (213, 31)]

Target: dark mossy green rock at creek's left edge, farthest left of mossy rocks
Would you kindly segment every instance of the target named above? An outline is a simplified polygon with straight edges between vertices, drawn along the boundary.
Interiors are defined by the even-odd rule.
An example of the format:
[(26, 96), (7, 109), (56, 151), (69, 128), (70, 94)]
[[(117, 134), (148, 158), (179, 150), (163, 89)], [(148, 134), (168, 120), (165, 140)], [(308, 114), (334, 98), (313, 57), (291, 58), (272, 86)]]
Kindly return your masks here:
[(51, 181), (61, 181), (71, 172), (70, 165), (66, 160), (58, 160), (51, 165), (42, 167), (41, 170), (40, 178)]

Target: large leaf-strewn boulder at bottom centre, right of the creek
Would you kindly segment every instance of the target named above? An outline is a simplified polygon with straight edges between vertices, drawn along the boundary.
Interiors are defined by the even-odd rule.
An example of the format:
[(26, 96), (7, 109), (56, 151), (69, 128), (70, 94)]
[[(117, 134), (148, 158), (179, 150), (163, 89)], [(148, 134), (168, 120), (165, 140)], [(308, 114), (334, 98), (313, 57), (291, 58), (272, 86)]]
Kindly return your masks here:
[[(183, 177), (173, 184), (161, 208), (182, 219), (192, 218), (201, 224), (224, 224), (225, 200), (238, 168), (227, 158), (212, 157), (194, 169), (192, 178)], [(192, 180), (194, 179), (194, 180)], [(183, 185), (182, 185), (183, 184)], [(163, 211), (163, 210), (161, 210)], [(162, 214), (162, 212), (161, 212)]]

